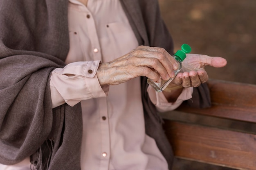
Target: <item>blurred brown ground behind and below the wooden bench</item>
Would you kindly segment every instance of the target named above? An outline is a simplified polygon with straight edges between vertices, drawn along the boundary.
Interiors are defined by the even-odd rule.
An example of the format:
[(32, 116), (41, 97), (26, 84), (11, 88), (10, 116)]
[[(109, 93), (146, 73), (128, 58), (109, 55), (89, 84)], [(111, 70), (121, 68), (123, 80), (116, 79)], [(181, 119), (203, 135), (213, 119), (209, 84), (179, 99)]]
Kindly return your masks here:
[[(175, 51), (227, 59), (224, 68), (207, 67), (209, 78), (256, 84), (256, 0), (159, 0)], [(173, 170), (232, 170), (175, 159)]]

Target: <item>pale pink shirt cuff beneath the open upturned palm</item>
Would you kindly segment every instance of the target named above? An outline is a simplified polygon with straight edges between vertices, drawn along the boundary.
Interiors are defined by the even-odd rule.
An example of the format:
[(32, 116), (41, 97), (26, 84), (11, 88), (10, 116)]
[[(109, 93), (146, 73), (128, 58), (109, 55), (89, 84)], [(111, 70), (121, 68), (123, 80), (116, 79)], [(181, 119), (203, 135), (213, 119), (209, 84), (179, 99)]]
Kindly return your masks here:
[(151, 102), (156, 106), (157, 111), (164, 112), (174, 110), (184, 100), (192, 98), (193, 87), (184, 88), (175, 102), (168, 102), (163, 93), (156, 92), (151, 86), (148, 86), (147, 92)]

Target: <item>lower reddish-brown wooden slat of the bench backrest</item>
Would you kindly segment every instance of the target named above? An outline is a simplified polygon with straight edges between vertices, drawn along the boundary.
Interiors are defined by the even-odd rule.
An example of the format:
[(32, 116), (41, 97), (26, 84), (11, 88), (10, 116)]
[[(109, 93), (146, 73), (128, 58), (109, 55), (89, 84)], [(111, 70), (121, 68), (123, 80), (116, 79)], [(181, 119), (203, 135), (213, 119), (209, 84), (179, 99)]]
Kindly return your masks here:
[[(256, 170), (256, 135), (165, 120), (176, 157)], [(241, 168), (243, 167), (243, 168)]]

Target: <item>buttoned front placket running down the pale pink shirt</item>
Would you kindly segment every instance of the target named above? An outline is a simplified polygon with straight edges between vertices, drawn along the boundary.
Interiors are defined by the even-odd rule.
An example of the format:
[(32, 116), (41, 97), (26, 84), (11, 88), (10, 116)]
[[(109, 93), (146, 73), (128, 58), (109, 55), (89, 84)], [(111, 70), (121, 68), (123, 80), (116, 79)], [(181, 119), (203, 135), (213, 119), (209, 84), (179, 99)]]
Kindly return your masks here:
[[(85, 7), (85, 26), (87, 26), (89, 39), (92, 45), (92, 55), (94, 60), (102, 61), (101, 48), (99, 44), (99, 38), (97, 35), (97, 29), (95, 26), (94, 18), (92, 13)], [(90, 71), (90, 70), (89, 70)], [(109, 130), (109, 121), (108, 121), (108, 109), (107, 108), (107, 98), (99, 98), (99, 122), (101, 130), (101, 154), (99, 170), (108, 170), (110, 162), (110, 130)]]

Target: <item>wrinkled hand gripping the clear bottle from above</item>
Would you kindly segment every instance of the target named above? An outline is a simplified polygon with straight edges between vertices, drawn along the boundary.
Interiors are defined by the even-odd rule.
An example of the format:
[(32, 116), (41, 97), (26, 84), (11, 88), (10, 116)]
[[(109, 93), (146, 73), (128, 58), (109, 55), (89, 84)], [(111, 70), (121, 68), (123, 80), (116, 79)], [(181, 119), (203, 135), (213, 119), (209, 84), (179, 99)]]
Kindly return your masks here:
[(160, 76), (164, 80), (174, 77), (173, 70), (177, 68), (176, 60), (164, 48), (139, 46), (122, 57), (101, 63), (97, 77), (101, 85), (117, 85), (138, 76), (160, 82)]

